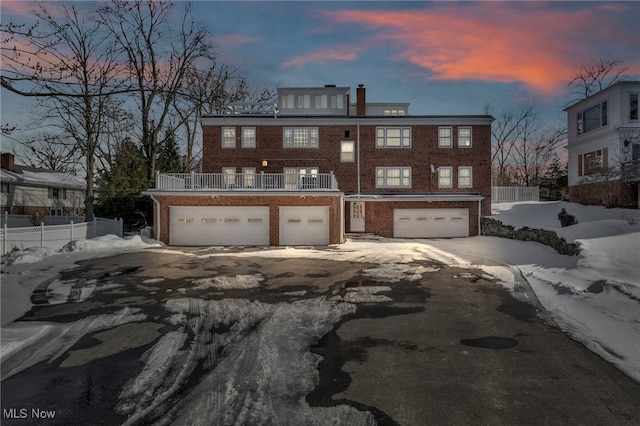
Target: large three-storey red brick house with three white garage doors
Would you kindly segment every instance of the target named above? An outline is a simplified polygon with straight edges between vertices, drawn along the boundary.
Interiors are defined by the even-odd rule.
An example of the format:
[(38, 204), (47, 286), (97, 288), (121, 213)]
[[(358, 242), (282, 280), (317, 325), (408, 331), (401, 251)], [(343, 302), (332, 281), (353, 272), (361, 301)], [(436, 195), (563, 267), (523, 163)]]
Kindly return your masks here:
[[(347, 233), (467, 237), (491, 212), (493, 117), (411, 116), (363, 85), (278, 89), (277, 105), (205, 116), (204, 173), (162, 174), (172, 245), (326, 245)], [(262, 108), (262, 109), (261, 109)]]

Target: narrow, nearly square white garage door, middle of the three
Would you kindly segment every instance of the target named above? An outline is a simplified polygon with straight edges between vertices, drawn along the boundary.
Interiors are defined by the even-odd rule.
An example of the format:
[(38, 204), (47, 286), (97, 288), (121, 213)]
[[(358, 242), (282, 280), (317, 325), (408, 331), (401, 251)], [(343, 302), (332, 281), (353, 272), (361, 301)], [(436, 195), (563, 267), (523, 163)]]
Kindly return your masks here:
[(280, 245), (329, 244), (329, 207), (280, 207)]

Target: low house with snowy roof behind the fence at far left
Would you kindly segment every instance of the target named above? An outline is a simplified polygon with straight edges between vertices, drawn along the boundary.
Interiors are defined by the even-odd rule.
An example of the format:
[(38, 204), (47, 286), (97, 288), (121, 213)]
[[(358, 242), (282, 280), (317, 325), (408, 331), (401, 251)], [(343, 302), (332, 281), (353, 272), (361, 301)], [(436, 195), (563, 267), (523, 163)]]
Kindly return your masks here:
[(69, 173), (20, 166), (14, 156), (2, 153), (2, 212), (9, 214), (67, 216), (84, 214), (84, 179)]

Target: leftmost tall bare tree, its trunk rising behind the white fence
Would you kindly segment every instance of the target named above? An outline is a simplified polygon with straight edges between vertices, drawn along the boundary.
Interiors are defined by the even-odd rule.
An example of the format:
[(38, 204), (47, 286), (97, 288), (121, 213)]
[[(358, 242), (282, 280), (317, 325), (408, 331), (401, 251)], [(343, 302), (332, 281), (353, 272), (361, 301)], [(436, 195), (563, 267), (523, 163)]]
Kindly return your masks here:
[(2, 87), (36, 97), (54, 125), (84, 157), (86, 220), (93, 219), (95, 156), (105, 119), (115, 111), (111, 96), (126, 91), (122, 73), (99, 22), (75, 5), (34, 11), (36, 26), (2, 25)]

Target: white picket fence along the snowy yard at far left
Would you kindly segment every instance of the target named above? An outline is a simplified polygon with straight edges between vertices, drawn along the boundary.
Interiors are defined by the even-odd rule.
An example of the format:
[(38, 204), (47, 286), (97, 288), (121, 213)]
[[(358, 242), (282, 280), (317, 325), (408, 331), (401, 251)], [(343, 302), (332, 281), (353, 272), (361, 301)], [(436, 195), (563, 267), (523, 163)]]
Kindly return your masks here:
[(49, 247), (61, 249), (70, 241), (86, 240), (107, 234), (122, 237), (122, 219), (95, 218), (92, 222), (69, 223), (68, 225), (45, 225), (9, 228), (5, 223), (0, 228), (2, 254), (14, 249)]

